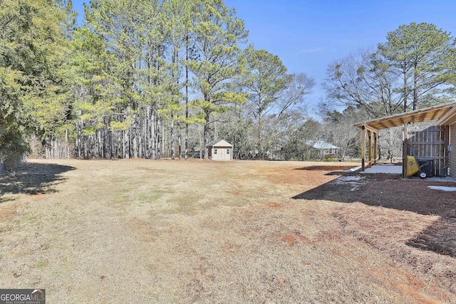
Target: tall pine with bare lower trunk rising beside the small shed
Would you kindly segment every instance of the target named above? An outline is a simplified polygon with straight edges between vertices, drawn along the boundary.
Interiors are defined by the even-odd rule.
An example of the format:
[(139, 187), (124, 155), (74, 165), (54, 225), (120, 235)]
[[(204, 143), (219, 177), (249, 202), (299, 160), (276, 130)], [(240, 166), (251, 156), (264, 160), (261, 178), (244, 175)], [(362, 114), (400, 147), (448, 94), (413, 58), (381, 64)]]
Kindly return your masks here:
[(248, 32), (236, 11), (227, 9), (222, 0), (195, 3), (191, 43), (196, 56), (187, 64), (195, 75), (192, 86), (202, 96), (196, 103), (204, 113), (204, 158), (207, 159), (213, 115), (226, 111), (229, 105), (244, 102), (244, 95), (229, 90), (229, 80), (241, 71), (239, 44), (246, 42)]

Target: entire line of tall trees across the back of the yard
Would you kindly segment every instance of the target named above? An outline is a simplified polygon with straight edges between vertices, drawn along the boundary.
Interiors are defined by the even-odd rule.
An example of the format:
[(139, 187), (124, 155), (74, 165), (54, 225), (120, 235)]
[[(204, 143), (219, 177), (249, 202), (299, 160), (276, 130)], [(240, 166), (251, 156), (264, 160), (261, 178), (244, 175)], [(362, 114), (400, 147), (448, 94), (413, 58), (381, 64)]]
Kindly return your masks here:
[[(0, 1), (0, 169), (40, 157), (309, 159), (309, 140), (356, 154), (353, 122), (443, 103), (454, 94), (455, 41), (412, 23), (328, 66), (316, 85), (248, 43), (222, 0)], [(345, 110), (339, 110), (343, 107)], [(342, 108), (342, 109), (343, 109)]]

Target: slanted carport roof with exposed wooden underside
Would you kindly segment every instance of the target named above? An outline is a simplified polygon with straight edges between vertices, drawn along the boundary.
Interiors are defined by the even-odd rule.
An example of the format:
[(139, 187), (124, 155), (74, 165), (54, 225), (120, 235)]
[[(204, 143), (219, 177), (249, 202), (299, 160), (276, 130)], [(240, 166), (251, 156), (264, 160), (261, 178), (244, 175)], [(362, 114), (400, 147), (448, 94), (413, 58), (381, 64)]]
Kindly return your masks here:
[(391, 115), (376, 120), (369, 120), (355, 124), (356, 127), (370, 127), (375, 130), (388, 129), (390, 127), (399, 127), (408, 124), (408, 122), (427, 122), (438, 120), (437, 125), (444, 125), (450, 120), (450, 117), (456, 117), (456, 103), (447, 103), (446, 105), (435, 105), (430, 108), (423, 108), (412, 112)]

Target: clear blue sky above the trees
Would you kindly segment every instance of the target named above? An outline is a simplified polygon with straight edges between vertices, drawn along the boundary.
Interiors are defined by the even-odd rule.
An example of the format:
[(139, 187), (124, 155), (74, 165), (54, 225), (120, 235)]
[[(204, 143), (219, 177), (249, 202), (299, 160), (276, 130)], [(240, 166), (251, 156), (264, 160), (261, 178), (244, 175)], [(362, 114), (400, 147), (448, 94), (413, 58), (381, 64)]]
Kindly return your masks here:
[[(82, 0), (73, 0), (83, 15)], [(86, 1), (88, 2), (88, 1)], [(455, 0), (225, 0), (249, 30), (249, 43), (279, 56), (290, 73), (316, 80), (309, 103), (333, 61), (385, 42), (388, 31), (412, 22), (432, 23), (456, 36)]]

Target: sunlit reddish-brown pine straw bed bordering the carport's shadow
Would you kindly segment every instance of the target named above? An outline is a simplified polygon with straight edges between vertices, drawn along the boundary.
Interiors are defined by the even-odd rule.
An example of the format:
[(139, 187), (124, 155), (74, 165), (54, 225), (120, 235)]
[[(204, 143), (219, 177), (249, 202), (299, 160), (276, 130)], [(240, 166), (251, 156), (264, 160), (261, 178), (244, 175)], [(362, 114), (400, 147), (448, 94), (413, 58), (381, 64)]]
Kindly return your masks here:
[[(455, 257), (448, 256), (439, 248), (430, 250), (429, 244), (423, 246), (424, 250), (418, 250), (415, 244), (422, 237), (435, 244), (445, 243), (446, 238), (452, 237), (452, 244), (447, 247), (455, 250), (455, 226), (451, 231), (445, 231), (439, 224), (440, 216), (423, 216), (361, 203), (343, 207), (335, 215), (341, 219), (343, 231), (388, 253), (396, 264), (414, 268), (413, 282), (420, 290), (438, 298), (456, 292)], [(428, 227), (440, 230), (442, 237), (426, 236)]]

